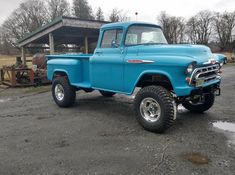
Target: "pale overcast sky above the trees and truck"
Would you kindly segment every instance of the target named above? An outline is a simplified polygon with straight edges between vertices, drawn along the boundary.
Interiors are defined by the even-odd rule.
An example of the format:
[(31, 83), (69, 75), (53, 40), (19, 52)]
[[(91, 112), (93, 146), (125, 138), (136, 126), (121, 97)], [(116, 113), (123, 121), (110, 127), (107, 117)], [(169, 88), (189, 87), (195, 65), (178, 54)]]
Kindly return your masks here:
[[(0, 24), (16, 9), (23, 0), (0, 0)], [(68, 0), (72, 2), (72, 0)], [(235, 0), (88, 0), (93, 10), (99, 6), (107, 16), (113, 8), (123, 9), (131, 20), (156, 22), (161, 11), (170, 15), (190, 17), (200, 10), (234, 11)]]

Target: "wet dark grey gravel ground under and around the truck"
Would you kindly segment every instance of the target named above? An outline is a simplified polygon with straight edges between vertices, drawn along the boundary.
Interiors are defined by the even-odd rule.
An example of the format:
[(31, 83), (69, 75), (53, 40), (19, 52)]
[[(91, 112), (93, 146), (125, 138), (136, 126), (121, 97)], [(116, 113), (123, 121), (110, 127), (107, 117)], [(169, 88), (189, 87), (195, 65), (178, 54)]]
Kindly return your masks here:
[[(0, 89), (1, 175), (235, 172), (235, 66), (224, 68), (222, 94), (208, 112), (179, 108), (164, 134), (139, 126), (132, 97), (81, 91), (74, 107), (62, 109), (49, 90)], [(225, 121), (230, 129), (213, 127)]]

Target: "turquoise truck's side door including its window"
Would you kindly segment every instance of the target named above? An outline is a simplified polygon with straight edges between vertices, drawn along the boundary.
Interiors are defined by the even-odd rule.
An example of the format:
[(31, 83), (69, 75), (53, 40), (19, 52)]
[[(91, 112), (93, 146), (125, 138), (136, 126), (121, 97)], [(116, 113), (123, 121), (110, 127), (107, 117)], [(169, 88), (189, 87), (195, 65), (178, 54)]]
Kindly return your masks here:
[(90, 59), (91, 86), (97, 89), (123, 91), (124, 52), (122, 29), (104, 30), (100, 45)]

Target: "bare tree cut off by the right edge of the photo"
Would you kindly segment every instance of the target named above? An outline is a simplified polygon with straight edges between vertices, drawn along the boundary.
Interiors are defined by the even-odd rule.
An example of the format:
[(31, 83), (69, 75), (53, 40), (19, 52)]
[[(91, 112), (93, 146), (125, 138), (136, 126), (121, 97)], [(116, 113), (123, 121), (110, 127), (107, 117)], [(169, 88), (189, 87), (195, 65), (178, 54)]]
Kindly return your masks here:
[(221, 50), (230, 49), (232, 30), (235, 27), (235, 11), (230, 13), (216, 13), (214, 17), (214, 27)]

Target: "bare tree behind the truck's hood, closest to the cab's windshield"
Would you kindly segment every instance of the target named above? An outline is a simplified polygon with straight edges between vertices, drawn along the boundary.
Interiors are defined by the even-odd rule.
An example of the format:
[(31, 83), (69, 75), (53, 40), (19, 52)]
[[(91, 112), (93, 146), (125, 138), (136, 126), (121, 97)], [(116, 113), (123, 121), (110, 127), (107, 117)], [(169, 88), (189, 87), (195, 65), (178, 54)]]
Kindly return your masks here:
[(163, 28), (163, 33), (167, 41), (172, 43), (182, 43), (184, 41), (185, 20), (182, 17), (174, 17), (161, 12), (158, 21)]

